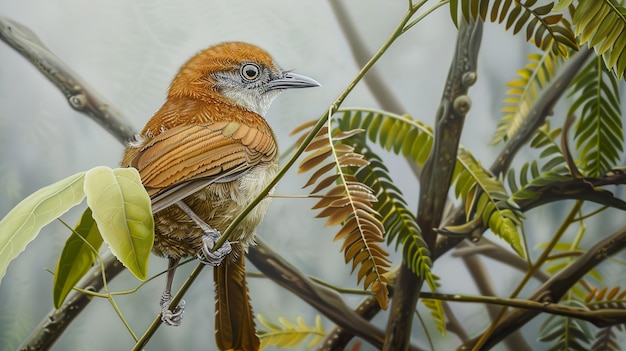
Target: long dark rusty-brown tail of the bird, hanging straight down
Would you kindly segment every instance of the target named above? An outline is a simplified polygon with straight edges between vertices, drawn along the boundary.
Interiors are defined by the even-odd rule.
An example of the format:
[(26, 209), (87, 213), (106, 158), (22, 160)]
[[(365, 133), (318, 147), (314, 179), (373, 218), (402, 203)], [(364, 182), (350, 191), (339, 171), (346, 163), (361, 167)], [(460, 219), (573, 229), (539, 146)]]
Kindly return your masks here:
[(227, 258), (213, 270), (215, 343), (220, 350), (258, 351), (260, 342), (248, 296), (243, 250), (231, 254), (237, 258)]

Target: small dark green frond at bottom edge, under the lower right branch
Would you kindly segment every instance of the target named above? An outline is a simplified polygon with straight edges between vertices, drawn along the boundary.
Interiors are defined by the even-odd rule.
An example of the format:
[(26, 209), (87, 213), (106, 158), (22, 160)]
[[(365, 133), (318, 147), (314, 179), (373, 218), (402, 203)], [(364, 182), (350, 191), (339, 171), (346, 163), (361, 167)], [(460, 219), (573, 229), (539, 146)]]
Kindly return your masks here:
[[(584, 308), (582, 303), (575, 300), (565, 301), (563, 304)], [(587, 322), (552, 315), (541, 326), (539, 341), (552, 344), (547, 351), (586, 351), (592, 335)]]

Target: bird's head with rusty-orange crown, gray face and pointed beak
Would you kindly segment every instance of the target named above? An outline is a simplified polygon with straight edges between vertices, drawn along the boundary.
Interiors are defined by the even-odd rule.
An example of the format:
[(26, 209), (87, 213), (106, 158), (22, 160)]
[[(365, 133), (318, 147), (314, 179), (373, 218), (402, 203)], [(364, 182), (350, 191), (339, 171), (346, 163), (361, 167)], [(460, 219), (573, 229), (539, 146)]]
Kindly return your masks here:
[(238, 105), (264, 116), (281, 91), (320, 86), (315, 80), (282, 70), (263, 49), (226, 42), (205, 49), (185, 63), (169, 96)]

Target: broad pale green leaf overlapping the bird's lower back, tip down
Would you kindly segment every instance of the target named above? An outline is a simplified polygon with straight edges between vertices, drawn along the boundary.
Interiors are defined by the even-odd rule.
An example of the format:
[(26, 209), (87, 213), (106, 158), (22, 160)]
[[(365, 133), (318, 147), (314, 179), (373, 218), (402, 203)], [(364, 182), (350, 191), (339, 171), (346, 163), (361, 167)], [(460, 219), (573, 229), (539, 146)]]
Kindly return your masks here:
[(85, 195), (111, 252), (137, 279), (146, 279), (154, 219), (137, 170), (93, 168), (85, 175)]

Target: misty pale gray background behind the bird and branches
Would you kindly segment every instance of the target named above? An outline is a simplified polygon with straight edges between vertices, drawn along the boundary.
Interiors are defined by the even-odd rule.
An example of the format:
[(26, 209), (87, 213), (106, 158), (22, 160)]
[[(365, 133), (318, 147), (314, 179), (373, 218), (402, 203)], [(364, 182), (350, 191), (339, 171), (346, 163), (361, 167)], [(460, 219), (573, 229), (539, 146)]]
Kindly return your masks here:
[[(407, 2), (399, 0), (350, 0), (345, 4), (372, 53), (386, 40), (407, 8)], [(326, 111), (359, 70), (327, 1), (0, 0), (0, 15), (30, 27), (136, 129), (163, 103), (180, 65), (195, 52), (217, 42), (254, 43), (269, 51), (283, 68), (322, 83), (321, 88), (286, 92), (270, 109), (267, 118), (283, 150), (295, 140), (289, 132)], [(377, 64), (406, 109), (397, 112), (432, 124), (454, 50), (455, 33), (448, 8), (443, 7), (399, 39)], [(485, 26), (479, 79), (470, 92), (473, 106), (462, 140), (483, 164), (490, 164), (499, 150), (486, 144), (500, 118), (504, 84), (515, 77), (516, 69), (526, 64), (525, 55), (534, 51), (521, 38), (511, 39), (502, 27)], [(363, 84), (359, 84), (343, 106), (378, 107)], [(100, 126), (74, 112), (55, 87), (4, 43), (0, 44), (0, 107), (0, 217), (42, 186), (94, 166), (115, 167), (120, 160), (122, 146)], [(411, 208), (416, 208), (418, 187), (406, 163), (398, 157), (385, 157)], [(292, 171), (278, 185), (276, 193), (304, 194), (306, 191), (301, 186), (306, 180), (306, 174)], [(273, 200), (258, 233), (303, 272), (339, 286), (355, 286), (354, 276), (345, 279), (349, 267), (339, 252), (341, 244), (332, 242), (338, 228), (325, 228), (323, 220), (311, 219), (314, 213), (309, 208), (313, 203), (304, 199)], [(551, 207), (553, 211), (529, 214), (532, 220), (526, 230), (535, 238), (531, 248), (548, 240), (555, 222), (568, 211), (568, 205), (557, 204)], [(73, 224), (83, 208), (84, 204), (80, 211), (71, 211), (63, 218)], [(602, 237), (623, 225), (618, 216), (613, 218), (606, 220), (600, 232), (593, 235)], [(0, 350), (15, 349), (50, 310), (52, 275), (45, 269), (54, 269), (67, 237), (62, 224), (52, 223), (9, 267), (0, 285)], [(592, 243), (590, 235), (583, 245), (588, 247)], [(397, 257), (394, 255), (395, 263), (399, 262)], [(493, 283), (498, 292), (510, 293), (521, 274), (493, 262), (486, 263), (496, 272)], [(164, 268), (165, 260), (153, 256), (150, 273), (156, 274)], [(187, 265), (177, 271), (176, 286), (192, 268), (193, 265)], [(252, 265), (249, 268), (255, 270)], [(148, 350), (214, 348), (210, 272), (205, 270), (186, 295), (182, 326), (160, 328)], [(458, 258), (448, 255), (437, 261), (435, 273), (442, 277), (441, 292), (476, 293)], [(619, 270), (607, 276), (613, 285), (625, 278)], [(606, 283), (612, 286), (611, 281)], [(130, 274), (124, 273), (110, 288), (121, 291), (137, 284)], [(157, 278), (135, 294), (116, 297), (139, 335), (158, 312), (163, 284), (164, 279)], [(293, 321), (302, 316), (313, 324), (318, 314), (271, 282), (250, 279), (250, 291), (255, 313), (271, 321), (281, 316)], [(352, 305), (361, 299), (351, 295), (345, 298)], [(452, 306), (469, 333), (486, 326), (486, 312), (481, 306)], [(420, 311), (429, 320), (427, 312), (421, 307)], [(385, 319), (383, 313), (376, 322), (384, 326)], [(332, 323), (325, 318), (323, 321), (330, 330)], [(538, 323), (529, 324), (524, 331), (535, 335)], [(458, 345), (454, 336), (441, 343), (435, 328), (432, 325), (428, 328), (434, 339), (439, 340), (438, 350)], [(413, 335), (414, 343), (428, 348), (418, 322), (414, 324)], [(55, 350), (124, 350), (133, 344), (108, 302), (95, 299), (58, 341)], [(370, 346), (364, 343), (362, 350), (368, 349)]]

